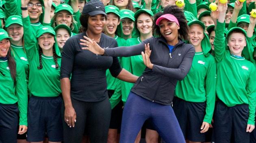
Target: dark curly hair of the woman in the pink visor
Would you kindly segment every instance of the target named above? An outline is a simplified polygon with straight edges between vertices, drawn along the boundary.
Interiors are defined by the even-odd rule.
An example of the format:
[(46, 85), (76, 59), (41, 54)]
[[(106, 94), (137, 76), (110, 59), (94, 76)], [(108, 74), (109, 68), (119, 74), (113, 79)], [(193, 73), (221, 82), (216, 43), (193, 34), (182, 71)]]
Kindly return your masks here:
[(184, 15), (184, 11), (177, 6), (166, 6), (163, 10), (163, 12), (156, 13), (154, 15), (154, 25), (153, 25), (153, 32), (156, 36), (161, 36), (160, 27), (156, 25), (156, 20), (165, 14), (171, 14), (174, 15), (180, 24), (180, 29), (178, 29), (179, 37), (183, 40), (188, 39), (188, 33), (189, 33), (189, 26), (187, 25), (187, 19)]

